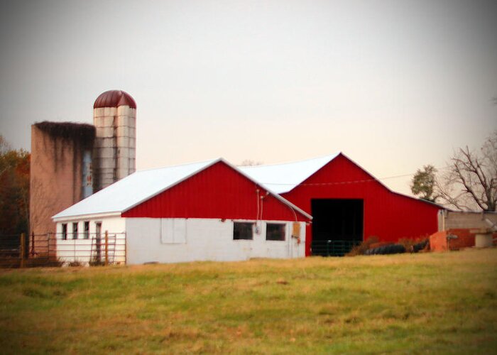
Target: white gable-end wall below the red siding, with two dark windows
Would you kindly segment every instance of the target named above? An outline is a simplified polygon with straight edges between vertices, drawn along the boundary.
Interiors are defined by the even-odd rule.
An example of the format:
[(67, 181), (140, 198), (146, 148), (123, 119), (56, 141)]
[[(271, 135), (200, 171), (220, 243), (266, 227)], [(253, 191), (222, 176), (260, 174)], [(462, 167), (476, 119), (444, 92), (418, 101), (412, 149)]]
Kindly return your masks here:
[[(184, 242), (165, 242), (166, 224), (184, 221)], [(236, 221), (253, 222), (253, 221)], [(182, 223), (182, 222), (181, 222)], [(266, 241), (266, 223), (285, 223), (285, 241)], [(253, 240), (234, 240), (232, 220), (126, 218), (127, 263), (178, 263), (187, 261), (241, 261), (249, 258), (305, 257), (305, 223), (300, 222), (301, 242), (291, 237), (293, 222), (258, 222)]]

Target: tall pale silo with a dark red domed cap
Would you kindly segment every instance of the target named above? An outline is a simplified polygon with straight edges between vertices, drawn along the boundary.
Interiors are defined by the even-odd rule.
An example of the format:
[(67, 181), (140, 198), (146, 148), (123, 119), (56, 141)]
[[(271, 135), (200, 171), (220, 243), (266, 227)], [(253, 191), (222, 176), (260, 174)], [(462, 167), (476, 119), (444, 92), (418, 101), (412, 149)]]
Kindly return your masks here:
[(93, 122), (97, 192), (136, 170), (136, 102), (122, 90), (104, 92), (93, 105)]

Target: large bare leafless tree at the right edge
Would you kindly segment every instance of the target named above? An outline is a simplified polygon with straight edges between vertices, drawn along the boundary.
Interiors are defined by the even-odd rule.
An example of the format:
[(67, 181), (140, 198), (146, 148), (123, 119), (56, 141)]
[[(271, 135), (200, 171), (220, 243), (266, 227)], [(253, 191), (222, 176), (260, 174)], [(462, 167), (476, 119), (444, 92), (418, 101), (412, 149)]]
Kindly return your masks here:
[(437, 195), (457, 209), (497, 210), (497, 131), (479, 152), (466, 146), (454, 153), (448, 172), (437, 182)]

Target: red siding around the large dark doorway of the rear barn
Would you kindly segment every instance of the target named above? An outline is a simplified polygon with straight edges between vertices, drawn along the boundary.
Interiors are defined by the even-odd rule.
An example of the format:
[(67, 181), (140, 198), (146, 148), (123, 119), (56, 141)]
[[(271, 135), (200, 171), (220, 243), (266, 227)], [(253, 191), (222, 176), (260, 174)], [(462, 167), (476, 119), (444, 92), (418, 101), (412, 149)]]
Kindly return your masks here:
[[(365, 239), (378, 236), (381, 241), (398, 241), (403, 237), (429, 236), (437, 231), (439, 207), (391, 192), (342, 154), (282, 196), (309, 214), (312, 214), (312, 199), (364, 200)], [(312, 226), (307, 226), (307, 256), (311, 241)]]

